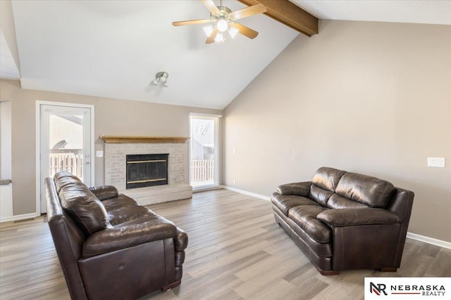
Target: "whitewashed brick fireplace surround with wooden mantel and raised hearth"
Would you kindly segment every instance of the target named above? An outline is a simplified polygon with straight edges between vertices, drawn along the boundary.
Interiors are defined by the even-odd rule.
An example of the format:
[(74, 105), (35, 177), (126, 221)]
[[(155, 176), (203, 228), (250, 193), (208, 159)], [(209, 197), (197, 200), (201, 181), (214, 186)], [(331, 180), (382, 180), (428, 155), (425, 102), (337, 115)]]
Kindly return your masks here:
[[(142, 205), (192, 197), (192, 187), (185, 179), (187, 138), (101, 136), (101, 139), (105, 141), (105, 185), (115, 186)], [(127, 189), (127, 155), (149, 153), (168, 155), (168, 184)]]

